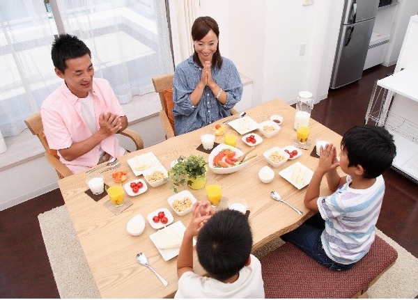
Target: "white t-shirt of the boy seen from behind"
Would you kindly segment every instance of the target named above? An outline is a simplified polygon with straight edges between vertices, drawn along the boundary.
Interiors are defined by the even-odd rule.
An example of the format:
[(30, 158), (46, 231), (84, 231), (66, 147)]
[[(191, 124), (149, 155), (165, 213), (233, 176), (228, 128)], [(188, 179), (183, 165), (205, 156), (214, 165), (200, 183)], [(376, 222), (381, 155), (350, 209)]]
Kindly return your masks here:
[(233, 283), (185, 272), (178, 280), (174, 298), (265, 298), (261, 263), (251, 254), (251, 263), (240, 270)]

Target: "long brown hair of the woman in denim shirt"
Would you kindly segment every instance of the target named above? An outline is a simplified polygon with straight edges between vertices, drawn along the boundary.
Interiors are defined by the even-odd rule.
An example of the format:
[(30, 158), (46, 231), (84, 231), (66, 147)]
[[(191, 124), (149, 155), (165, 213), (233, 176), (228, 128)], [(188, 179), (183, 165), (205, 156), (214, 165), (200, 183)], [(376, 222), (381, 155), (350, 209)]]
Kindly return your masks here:
[[(217, 67), (220, 69), (222, 67), (222, 56), (219, 52), (219, 26), (215, 19), (213, 19), (212, 17), (198, 17), (197, 19), (195, 19), (192, 26), (192, 40), (201, 40), (208, 34), (210, 29), (212, 29), (212, 31), (215, 32), (218, 38), (216, 52), (212, 56), (212, 65), (217, 65)], [(196, 50), (194, 50), (193, 61), (200, 65), (201, 68), (203, 68), (203, 65), (199, 60), (199, 56)]]

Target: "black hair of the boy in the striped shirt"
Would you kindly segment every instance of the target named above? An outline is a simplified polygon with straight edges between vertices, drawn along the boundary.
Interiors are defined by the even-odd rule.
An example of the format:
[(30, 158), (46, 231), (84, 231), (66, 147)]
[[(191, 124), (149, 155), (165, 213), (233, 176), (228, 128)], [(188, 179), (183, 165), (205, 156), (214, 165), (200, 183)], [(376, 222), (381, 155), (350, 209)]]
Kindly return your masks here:
[(348, 166), (361, 165), (364, 178), (376, 178), (392, 165), (396, 155), (394, 137), (387, 129), (373, 125), (355, 126), (343, 135), (341, 150)]

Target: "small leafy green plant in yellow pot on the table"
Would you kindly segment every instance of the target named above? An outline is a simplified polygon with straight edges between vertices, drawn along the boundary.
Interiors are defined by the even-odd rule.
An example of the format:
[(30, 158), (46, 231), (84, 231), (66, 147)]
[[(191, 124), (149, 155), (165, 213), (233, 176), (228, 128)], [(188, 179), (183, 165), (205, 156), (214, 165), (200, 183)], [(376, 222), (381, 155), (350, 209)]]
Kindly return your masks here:
[(169, 171), (171, 189), (178, 192), (178, 187), (187, 185), (191, 189), (201, 189), (206, 184), (206, 161), (201, 155), (180, 156)]

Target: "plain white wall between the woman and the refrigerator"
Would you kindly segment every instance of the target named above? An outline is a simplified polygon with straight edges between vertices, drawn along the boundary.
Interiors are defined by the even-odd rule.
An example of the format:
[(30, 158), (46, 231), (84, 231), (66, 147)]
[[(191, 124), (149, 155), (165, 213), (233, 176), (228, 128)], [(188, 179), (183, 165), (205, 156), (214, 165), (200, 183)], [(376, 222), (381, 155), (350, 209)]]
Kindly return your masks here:
[[(254, 105), (272, 98), (291, 104), (300, 90), (310, 90), (317, 102), (327, 97), (343, 1), (200, 3), (197, 15), (210, 15), (219, 24), (222, 55), (254, 80)], [(306, 48), (300, 56), (302, 44)]]

